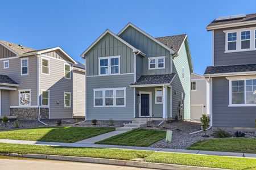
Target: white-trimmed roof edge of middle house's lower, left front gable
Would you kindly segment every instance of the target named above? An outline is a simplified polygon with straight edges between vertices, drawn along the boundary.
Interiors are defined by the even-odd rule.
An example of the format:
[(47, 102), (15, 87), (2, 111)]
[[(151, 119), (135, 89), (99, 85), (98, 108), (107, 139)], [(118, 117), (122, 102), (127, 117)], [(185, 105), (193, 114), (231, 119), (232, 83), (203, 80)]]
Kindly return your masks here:
[(123, 44), (129, 46), (129, 48), (131, 48), (133, 50), (133, 52), (139, 52), (140, 54), (142, 54), (142, 56), (146, 56), (146, 54), (144, 54), (143, 52), (141, 52), (141, 50), (138, 50), (137, 48), (135, 48), (133, 45), (129, 44), (128, 42), (126, 42), (125, 40), (121, 39), (121, 37), (115, 35), (112, 31), (110, 31), (109, 29), (106, 29), (106, 31), (104, 31), (104, 33), (102, 33), (102, 35), (100, 37), (98, 37), (98, 39), (96, 41), (93, 42), (93, 44), (91, 44), (82, 54), (81, 57), (84, 58), (85, 54), (87, 52), (89, 52), (89, 50), (95, 45), (97, 44), (98, 41), (100, 41), (107, 33), (109, 33), (110, 35), (112, 35), (113, 37), (115, 37), (115, 39), (118, 39), (119, 41), (121, 41)]

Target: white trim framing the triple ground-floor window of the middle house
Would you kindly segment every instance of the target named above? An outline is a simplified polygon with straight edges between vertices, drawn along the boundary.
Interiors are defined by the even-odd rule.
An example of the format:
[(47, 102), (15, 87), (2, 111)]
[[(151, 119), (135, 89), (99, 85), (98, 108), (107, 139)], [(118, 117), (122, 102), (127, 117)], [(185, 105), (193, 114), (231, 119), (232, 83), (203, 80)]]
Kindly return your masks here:
[[(105, 91), (106, 90), (113, 90), (113, 105), (105, 105), (105, 99), (106, 99), (105, 98)], [(116, 105), (116, 100), (117, 100), (116, 91), (117, 90), (123, 90), (124, 91), (124, 98), (125, 98), (124, 105)], [(95, 91), (102, 91), (102, 105), (95, 105)], [(123, 98), (123, 97), (118, 97), (118, 98)], [(101, 99), (101, 98), (97, 98), (97, 99)], [(93, 107), (94, 108), (126, 107), (126, 87), (120, 87), (120, 88), (94, 88), (93, 89)]]

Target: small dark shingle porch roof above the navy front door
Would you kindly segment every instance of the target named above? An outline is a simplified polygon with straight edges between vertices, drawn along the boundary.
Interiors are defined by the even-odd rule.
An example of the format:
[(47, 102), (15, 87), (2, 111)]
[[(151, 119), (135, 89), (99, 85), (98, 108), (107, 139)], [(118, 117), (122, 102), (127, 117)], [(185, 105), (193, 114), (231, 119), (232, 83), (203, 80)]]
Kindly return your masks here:
[(171, 83), (175, 73), (162, 75), (142, 75), (137, 82), (130, 85), (145, 85), (145, 84), (167, 84)]

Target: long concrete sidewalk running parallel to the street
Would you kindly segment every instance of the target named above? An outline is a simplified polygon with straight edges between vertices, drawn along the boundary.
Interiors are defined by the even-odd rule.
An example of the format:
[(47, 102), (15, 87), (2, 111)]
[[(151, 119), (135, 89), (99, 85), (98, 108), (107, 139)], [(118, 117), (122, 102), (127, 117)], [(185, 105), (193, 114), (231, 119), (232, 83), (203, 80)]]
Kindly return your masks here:
[(217, 151), (199, 151), (199, 150), (181, 150), (170, 148), (137, 147), (137, 146), (117, 146), (117, 145), (98, 145), (92, 143), (58, 143), (58, 142), (39, 142), (39, 141), (19, 141), (10, 139), (0, 139), (0, 143), (23, 144), (23, 145), (46, 145), (46, 146), (66, 146), (66, 147), (94, 147), (94, 148), (121, 148), (129, 150), (173, 152), (181, 154), (200, 154), (200, 155), (218, 155), (235, 156), (242, 158), (256, 158), (256, 154), (246, 154), (237, 152), (217, 152)]

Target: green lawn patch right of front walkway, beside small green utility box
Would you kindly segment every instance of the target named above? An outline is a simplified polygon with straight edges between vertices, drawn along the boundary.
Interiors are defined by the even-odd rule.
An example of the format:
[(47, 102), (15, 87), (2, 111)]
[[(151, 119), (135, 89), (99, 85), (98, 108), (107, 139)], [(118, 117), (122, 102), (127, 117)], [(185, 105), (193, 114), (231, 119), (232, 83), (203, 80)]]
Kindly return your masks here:
[(106, 145), (150, 146), (165, 137), (166, 131), (135, 129), (96, 143)]

